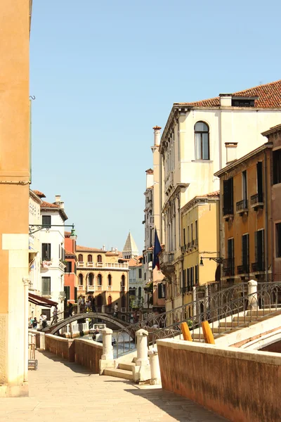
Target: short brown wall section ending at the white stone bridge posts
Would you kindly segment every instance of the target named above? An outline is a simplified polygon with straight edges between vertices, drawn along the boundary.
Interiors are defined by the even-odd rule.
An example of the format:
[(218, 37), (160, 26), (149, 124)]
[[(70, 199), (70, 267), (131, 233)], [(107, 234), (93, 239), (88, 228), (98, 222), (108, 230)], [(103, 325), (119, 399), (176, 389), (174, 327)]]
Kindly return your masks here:
[(96, 341), (75, 338), (75, 362), (86, 366), (93, 373), (99, 372), (101, 355), (103, 354), (103, 345)]

